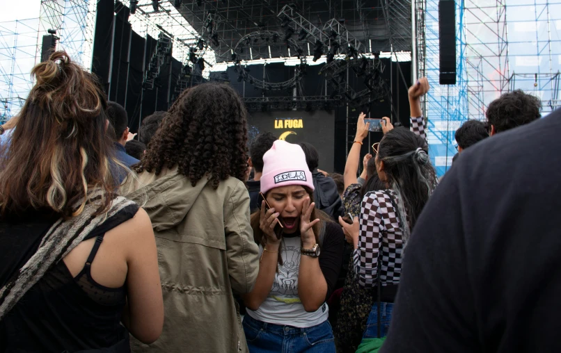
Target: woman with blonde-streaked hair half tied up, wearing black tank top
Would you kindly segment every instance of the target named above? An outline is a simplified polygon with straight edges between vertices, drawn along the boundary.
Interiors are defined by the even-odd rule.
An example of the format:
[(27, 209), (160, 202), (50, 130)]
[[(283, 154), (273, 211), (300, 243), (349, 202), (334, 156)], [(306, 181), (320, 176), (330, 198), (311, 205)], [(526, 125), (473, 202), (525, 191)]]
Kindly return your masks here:
[(0, 147), (0, 352), (129, 352), (164, 320), (150, 219), (114, 194), (95, 77), (63, 51), (31, 74)]

